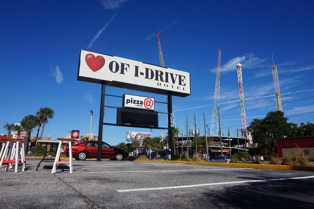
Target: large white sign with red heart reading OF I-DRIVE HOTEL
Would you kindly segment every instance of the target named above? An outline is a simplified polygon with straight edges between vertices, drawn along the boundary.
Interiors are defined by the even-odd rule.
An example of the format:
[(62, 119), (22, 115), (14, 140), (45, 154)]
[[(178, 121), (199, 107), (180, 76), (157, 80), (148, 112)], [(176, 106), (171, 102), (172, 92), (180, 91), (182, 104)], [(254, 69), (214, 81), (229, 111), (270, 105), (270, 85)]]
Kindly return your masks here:
[(82, 50), (78, 80), (186, 97), (191, 94), (190, 73)]

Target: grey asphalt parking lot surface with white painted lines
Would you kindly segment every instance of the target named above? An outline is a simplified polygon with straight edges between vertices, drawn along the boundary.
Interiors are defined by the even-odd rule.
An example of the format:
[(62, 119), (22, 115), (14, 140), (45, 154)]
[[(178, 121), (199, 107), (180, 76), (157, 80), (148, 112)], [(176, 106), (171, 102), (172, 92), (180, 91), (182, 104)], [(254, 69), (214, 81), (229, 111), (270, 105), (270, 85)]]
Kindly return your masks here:
[[(28, 160), (0, 170), (1, 208), (313, 208), (314, 172), (141, 161)], [(19, 169), (20, 170), (20, 169)]]

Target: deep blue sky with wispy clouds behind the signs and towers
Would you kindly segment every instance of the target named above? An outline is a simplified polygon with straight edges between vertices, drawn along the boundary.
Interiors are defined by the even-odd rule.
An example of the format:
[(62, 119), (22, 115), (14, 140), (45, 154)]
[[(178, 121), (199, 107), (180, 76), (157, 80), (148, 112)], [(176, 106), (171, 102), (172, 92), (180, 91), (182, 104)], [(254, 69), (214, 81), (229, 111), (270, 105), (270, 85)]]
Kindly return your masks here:
[[(241, 62), (247, 124), (276, 110), (271, 54), (278, 65), (286, 116), (314, 111), (314, 14), (312, 1), (6, 1), (0, 3), (0, 70), (3, 87), (0, 133), (3, 125), (19, 122), (40, 107), (55, 110), (44, 136), (64, 137), (68, 131), (88, 133), (89, 110), (94, 111), (92, 132), (98, 134), (100, 84), (77, 81), (81, 49), (159, 64), (155, 33), (160, 31), (165, 66), (191, 73), (191, 95), (173, 97), (176, 125), (203, 131), (203, 112), (211, 124), (218, 50), (221, 56), (221, 127), (241, 128), (236, 63)], [(309, 83), (292, 88), (303, 83)], [(304, 91), (306, 90), (306, 91)], [(304, 91), (301, 92), (300, 91)], [(163, 95), (108, 87), (107, 94)], [(294, 94), (296, 93), (296, 94)], [(268, 96), (264, 96), (270, 94)], [(292, 95), (290, 95), (292, 94)], [(256, 98), (257, 97), (257, 98)], [(303, 99), (299, 101), (298, 99)], [(269, 100), (262, 102), (264, 100)], [(289, 102), (289, 103), (287, 103)], [(287, 103), (287, 104), (284, 104)], [(122, 101), (105, 98), (105, 105)], [(224, 105), (229, 105), (225, 106)], [(233, 109), (235, 108), (235, 109)], [(233, 110), (227, 110), (233, 109)], [(156, 105), (157, 111), (166, 111)], [(252, 110), (252, 111), (250, 111)], [(106, 109), (105, 122), (115, 122)], [(233, 114), (233, 115), (229, 115)], [(313, 114), (289, 118), (314, 122)], [(165, 115), (160, 126), (166, 126)], [(104, 126), (104, 141), (125, 141), (126, 131), (149, 129)], [(153, 130), (153, 135), (165, 133)], [(36, 130), (32, 136), (36, 134)]]

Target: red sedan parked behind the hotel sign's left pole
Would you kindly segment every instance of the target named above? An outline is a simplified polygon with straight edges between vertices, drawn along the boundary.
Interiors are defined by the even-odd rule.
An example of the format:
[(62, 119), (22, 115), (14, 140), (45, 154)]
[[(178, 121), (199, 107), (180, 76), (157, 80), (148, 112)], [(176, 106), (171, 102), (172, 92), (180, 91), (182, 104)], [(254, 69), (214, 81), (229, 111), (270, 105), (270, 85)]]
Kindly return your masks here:
[[(86, 158), (97, 158), (97, 141), (84, 141), (72, 145), (72, 155), (76, 160), (85, 160)], [(65, 155), (69, 157), (69, 148), (66, 147)], [(112, 147), (106, 142), (102, 142), (101, 158), (111, 160), (123, 160), (129, 157), (129, 153), (120, 148)]]

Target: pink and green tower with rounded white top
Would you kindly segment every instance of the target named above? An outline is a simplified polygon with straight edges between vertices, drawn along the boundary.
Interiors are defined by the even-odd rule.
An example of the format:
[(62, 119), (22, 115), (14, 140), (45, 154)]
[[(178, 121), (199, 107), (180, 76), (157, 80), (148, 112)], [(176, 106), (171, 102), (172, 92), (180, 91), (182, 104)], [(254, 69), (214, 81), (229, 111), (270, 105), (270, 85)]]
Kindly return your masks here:
[(241, 122), (242, 122), (242, 135), (246, 138), (246, 115), (245, 115), (245, 105), (244, 105), (244, 91), (243, 91), (243, 81), (242, 81), (242, 65), (238, 63), (236, 65), (239, 83), (239, 97), (241, 105)]

